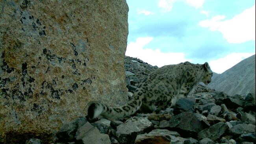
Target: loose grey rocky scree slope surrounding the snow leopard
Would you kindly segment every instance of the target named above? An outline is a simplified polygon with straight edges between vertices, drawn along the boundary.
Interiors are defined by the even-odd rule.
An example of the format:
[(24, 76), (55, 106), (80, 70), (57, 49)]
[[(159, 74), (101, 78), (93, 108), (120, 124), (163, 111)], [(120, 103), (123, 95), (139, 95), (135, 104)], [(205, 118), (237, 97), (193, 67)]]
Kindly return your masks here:
[[(129, 91), (156, 68), (126, 57)], [(32, 138), (26, 144), (43, 143)], [(254, 144), (255, 95), (230, 96), (199, 85), (193, 95), (156, 114), (136, 113), (122, 121), (74, 119), (61, 127), (55, 140), (54, 144)]]

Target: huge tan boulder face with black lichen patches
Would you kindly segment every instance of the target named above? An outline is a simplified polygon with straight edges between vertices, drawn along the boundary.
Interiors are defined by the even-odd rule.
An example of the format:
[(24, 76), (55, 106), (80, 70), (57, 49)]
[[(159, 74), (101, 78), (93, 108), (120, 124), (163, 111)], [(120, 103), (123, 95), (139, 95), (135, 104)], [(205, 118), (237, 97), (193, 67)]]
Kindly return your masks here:
[(124, 103), (125, 0), (0, 5), (0, 143), (51, 141), (90, 101)]

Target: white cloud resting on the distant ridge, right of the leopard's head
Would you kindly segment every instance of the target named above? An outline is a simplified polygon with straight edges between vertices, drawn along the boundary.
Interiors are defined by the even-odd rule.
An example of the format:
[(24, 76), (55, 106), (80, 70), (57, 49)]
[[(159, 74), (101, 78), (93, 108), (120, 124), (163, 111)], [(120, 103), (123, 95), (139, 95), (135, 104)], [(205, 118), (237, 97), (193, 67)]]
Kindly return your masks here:
[(209, 65), (213, 72), (221, 74), (224, 71), (236, 65), (237, 63), (239, 63), (240, 61), (242, 61), (243, 59), (246, 59), (254, 54), (255, 53), (232, 53), (228, 54), (224, 58), (211, 60), (209, 62)]

